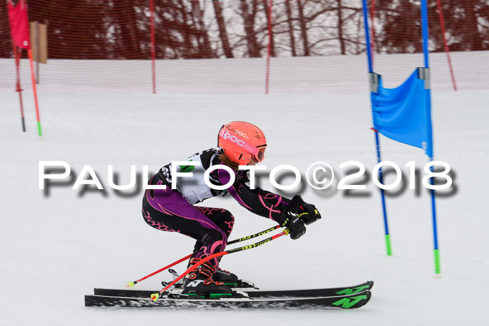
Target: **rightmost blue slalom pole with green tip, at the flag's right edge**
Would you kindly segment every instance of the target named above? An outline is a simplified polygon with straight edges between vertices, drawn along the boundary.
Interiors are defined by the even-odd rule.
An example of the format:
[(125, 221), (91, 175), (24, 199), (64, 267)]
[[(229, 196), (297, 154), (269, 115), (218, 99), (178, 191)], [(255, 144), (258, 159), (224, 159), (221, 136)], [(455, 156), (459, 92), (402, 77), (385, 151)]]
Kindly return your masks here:
[[(426, 0), (421, 0), (421, 29), (423, 31), (423, 54), (425, 57), (425, 68), (430, 68), (430, 61), (429, 61), (429, 52), (430, 49), (428, 49), (428, 38), (429, 38), (429, 31), (428, 31), (428, 3)], [(431, 93), (430, 89), (428, 88), (428, 99), (426, 103), (429, 105), (429, 108), (431, 108)], [(429, 110), (431, 112), (431, 110)], [(431, 117), (428, 121), (431, 121)], [(432, 148), (432, 126), (428, 126), (428, 141), (431, 144), (431, 148), (428, 149), (427, 154), (429, 161), (433, 161), (433, 148)], [(430, 171), (433, 172), (433, 167), (430, 168)], [(430, 183), (433, 185), (435, 184), (435, 178), (432, 177), (430, 178)], [(433, 244), (434, 244), (434, 255), (435, 255), (435, 274), (440, 274), (441, 269), (440, 269), (440, 259), (439, 259), (439, 248), (438, 248), (438, 227), (437, 227), (437, 209), (435, 205), (435, 190), (431, 189), (431, 211), (432, 211), (432, 220), (433, 220)]]

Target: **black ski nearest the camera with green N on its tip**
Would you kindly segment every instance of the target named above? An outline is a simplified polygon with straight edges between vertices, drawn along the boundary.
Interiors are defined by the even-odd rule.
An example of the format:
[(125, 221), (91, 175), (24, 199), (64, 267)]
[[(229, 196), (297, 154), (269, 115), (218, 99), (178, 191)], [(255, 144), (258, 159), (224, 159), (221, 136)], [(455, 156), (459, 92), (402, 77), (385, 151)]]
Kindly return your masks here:
[(143, 297), (117, 297), (104, 295), (85, 295), (85, 306), (121, 306), (121, 307), (160, 307), (160, 308), (313, 308), (332, 307), (354, 309), (365, 306), (372, 293), (368, 290), (351, 294), (322, 297), (249, 297), (219, 299), (159, 298), (156, 302)]

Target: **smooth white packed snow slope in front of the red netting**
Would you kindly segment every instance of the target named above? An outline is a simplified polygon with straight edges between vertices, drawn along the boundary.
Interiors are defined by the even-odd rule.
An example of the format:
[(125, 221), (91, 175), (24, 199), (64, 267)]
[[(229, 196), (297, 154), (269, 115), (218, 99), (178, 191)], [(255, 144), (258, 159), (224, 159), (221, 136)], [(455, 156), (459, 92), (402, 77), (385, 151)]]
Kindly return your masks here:
[[(470, 65), (467, 59), (467, 66)], [(410, 70), (410, 69), (409, 69)], [(409, 70), (405, 74), (409, 75)], [(361, 73), (360, 71), (358, 72)], [(487, 77), (487, 76), (486, 76)], [(191, 80), (191, 75), (189, 75)], [(27, 81), (24, 81), (27, 82)], [(229, 80), (233, 82), (233, 80)], [(435, 276), (430, 193), (398, 187), (386, 198), (393, 255), (386, 256), (379, 189), (370, 175), (377, 163), (367, 92), (351, 94), (69, 94), (40, 91), (43, 137), (36, 134), (31, 91), (23, 92), (27, 132), (20, 125), (18, 95), (0, 90), (0, 294), (1, 325), (481, 325), (486, 320), (489, 274), (489, 90), (432, 93), (435, 159), (453, 170), (453, 186), (439, 191), (437, 214), (441, 275)], [(29, 87), (26, 87), (30, 89)], [(141, 216), (143, 192), (108, 186), (108, 165), (119, 184), (130, 165), (156, 172), (216, 145), (222, 124), (257, 124), (268, 141), (270, 172), (281, 164), (302, 175), (316, 161), (336, 172), (328, 190), (305, 181), (292, 191), (323, 218), (298, 240), (280, 237), (228, 255), (221, 267), (261, 288), (349, 286), (373, 280), (372, 299), (357, 310), (168, 310), (86, 308), (94, 287), (124, 288), (191, 252), (194, 240), (149, 227)], [(422, 149), (381, 137), (383, 159), (421, 169)], [(72, 179), (39, 189), (39, 161), (66, 161)], [(337, 190), (360, 161), (365, 191)], [(84, 165), (92, 165), (105, 191), (72, 190)], [(292, 177), (282, 178), (291, 183)], [(394, 175), (386, 176), (386, 183)], [(138, 184), (142, 182), (138, 179)], [(258, 185), (275, 190), (262, 174)], [(230, 196), (200, 205), (235, 216), (231, 239), (274, 225), (240, 207)], [(182, 272), (184, 265), (177, 266)], [(160, 290), (167, 272), (141, 282)]]

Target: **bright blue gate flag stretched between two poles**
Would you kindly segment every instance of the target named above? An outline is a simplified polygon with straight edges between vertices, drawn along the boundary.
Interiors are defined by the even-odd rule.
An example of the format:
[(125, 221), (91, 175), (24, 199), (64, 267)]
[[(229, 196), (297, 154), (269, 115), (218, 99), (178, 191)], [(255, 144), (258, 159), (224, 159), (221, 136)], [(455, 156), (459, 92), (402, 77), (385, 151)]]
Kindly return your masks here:
[(425, 149), (433, 157), (430, 89), (418, 78), (418, 69), (395, 89), (382, 86), (370, 93), (374, 128), (397, 142)]

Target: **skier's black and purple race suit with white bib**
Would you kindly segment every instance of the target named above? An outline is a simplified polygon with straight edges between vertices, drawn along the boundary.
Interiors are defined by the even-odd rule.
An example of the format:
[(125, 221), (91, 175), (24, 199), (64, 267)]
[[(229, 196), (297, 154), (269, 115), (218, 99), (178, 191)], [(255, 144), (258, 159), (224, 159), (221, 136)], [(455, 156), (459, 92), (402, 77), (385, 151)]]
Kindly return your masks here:
[[(171, 189), (171, 165), (165, 165), (148, 184), (166, 185), (163, 189), (148, 189), (143, 198), (143, 217), (153, 228), (168, 232), (179, 232), (197, 240), (192, 258), (205, 258), (207, 255), (224, 251), (228, 237), (233, 230), (234, 217), (226, 209), (194, 206), (223, 191), (214, 190), (203, 180), (205, 170), (211, 165), (223, 164), (219, 160), (221, 149), (207, 149), (187, 158), (186, 161), (199, 165), (179, 165), (177, 172), (192, 172), (192, 177), (179, 177), (177, 188)], [(231, 179), (226, 170), (214, 170), (209, 180), (216, 186), (228, 184)], [(275, 220), (290, 200), (264, 191), (249, 188), (245, 171), (235, 171), (235, 181), (226, 189), (233, 198), (249, 212)], [(216, 268), (219, 260), (210, 261)]]

